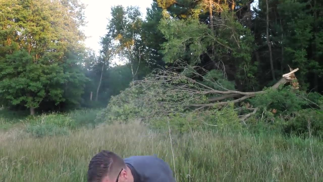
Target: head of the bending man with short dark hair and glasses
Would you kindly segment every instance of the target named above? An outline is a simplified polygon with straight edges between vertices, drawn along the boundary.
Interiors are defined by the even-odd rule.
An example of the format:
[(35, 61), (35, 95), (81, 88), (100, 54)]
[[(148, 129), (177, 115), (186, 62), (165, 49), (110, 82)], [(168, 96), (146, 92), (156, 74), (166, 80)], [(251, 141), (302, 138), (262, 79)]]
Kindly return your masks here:
[(102, 150), (90, 161), (88, 182), (133, 182), (133, 176), (120, 156)]

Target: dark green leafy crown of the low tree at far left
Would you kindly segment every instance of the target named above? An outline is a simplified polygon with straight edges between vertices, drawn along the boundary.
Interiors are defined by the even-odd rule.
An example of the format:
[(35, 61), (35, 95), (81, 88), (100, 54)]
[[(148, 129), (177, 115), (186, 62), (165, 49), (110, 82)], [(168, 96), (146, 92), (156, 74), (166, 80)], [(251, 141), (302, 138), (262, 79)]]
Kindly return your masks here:
[(0, 71), (0, 95), (12, 105), (37, 108), (45, 98), (64, 101), (63, 91), (57, 86), (66, 83), (65, 75), (57, 64), (42, 64), (42, 59), (34, 64), (26, 51), (15, 51), (0, 60)]

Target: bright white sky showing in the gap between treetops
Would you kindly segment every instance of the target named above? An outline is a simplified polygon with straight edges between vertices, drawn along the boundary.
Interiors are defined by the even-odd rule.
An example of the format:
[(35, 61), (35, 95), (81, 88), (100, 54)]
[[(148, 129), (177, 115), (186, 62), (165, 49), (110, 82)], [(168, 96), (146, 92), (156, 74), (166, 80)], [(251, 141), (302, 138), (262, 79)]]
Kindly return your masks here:
[[(87, 26), (83, 28), (85, 36), (89, 37), (85, 40), (85, 45), (96, 52), (99, 52), (101, 46), (99, 44), (100, 37), (103, 37), (107, 30), (108, 18), (111, 18), (111, 6), (122, 5), (139, 6), (143, 17), (146, 16), (146, 8), (151, 6), (152, 0), (79, 0), (88, 5), (85, 9), (85, 17)], [(120, 64), (115, 59), (113, 62)]]

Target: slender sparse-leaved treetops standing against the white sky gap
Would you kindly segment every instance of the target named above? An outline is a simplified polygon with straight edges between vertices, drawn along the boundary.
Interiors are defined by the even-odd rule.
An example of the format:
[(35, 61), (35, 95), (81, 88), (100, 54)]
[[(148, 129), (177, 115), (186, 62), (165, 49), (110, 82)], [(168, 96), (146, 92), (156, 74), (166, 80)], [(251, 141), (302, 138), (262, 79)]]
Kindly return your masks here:
[[(138, 70), (144, 70), (147, 63), (143, 61), (147, 58), (144, 55), (147, 51), (141, 39), (142, 19), (139, 7), (114, 6), (111, 7), (111, 16), (107, 26), (108, 33), (101, 40), (102, 51), (104, 52), (108, 47), (114, 47), (121, 61), (130, 66), (132, 79), (138, 80), (141, 72)], [(116, 40), (114, 44), (112, 40)]]

